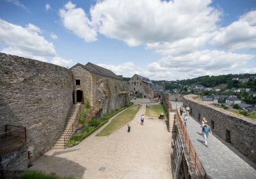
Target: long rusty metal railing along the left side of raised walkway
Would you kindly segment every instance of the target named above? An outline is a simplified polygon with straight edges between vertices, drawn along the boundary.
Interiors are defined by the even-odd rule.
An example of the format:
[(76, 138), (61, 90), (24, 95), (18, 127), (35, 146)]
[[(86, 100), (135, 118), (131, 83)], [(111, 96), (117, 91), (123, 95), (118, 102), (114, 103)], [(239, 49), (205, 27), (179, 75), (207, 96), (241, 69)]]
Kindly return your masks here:
[(192, 163), (195, 166), (196, 174), (198, 174), (198, 178), (207, 178), (207, 174), (205, 172), (205, 169), (204, 169), (202, 163), (200, 162), (200, 159), (198, 158), (198, 155), (196, 154), (195, 148), (194, 148), (193, 144), (191, 143), (191, 140), (189, 139), (188, 132), (185, 128), (184, 123), (182, 122), (182, 120), (180, 118), (180, 114), (178, 113), (178, 111), (176, 111), (176, 116), (178, 118), (179, 125), (180, 125), (180, 128), (182, 130), (182, 134), (184, 136), (185, 143), (186, 143), (186, 146), (188, 148), (188, 152), (189, 152), (189, 155), (191, 157)]

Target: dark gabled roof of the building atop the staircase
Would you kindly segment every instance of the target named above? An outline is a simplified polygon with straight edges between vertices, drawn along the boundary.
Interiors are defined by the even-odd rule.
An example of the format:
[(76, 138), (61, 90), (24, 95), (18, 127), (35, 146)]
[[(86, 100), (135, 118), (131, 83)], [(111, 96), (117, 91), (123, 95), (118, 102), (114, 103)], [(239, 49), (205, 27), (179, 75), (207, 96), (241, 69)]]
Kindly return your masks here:
[(90, 62), (88, 62), (86, 65), (83, 65), (81, 63), (77, 63), (76, 65), (72, 66), (71, 68), (74, 68), (76, 66), (82, 66), (84, 69), (88, 70), (89, 72), (92, 72), (93, 74), (102, 75), (104, 77), (110, 77), (110, 78), (113, 78), (113, 79), (122, 80), (121, 77), (118, 77), (118, 75), (114, 74), (111, 70), (108, 70), (106, 68), (103, 68), (99, 65), (95, 65), (95, 64), (90, 63)]

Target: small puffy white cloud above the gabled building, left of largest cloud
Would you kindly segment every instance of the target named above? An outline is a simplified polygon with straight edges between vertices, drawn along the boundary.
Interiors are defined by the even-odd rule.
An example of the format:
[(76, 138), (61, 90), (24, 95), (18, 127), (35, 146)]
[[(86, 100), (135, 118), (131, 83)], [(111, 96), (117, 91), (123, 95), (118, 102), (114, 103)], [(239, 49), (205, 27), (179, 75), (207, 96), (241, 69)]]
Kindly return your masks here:
[(97, 40), (97, 33), (90, 26), (90, 20), (82, 8), (76, 8), (76, 4), (68, 2), (60, 10), (60, 17), (68, 30), (83, 38), (86, 42)]

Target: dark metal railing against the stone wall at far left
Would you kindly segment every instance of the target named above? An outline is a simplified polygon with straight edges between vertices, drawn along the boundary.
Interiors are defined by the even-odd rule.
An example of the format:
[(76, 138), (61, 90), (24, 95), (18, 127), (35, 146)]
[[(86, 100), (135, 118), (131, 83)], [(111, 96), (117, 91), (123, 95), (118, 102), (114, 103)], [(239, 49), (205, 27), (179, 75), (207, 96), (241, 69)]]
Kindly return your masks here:
[(17, 125), (5, 125), (5, 132), (0, 134), (0, 138), (12, 138), (22, 142), (27, 141), (26, 127)]

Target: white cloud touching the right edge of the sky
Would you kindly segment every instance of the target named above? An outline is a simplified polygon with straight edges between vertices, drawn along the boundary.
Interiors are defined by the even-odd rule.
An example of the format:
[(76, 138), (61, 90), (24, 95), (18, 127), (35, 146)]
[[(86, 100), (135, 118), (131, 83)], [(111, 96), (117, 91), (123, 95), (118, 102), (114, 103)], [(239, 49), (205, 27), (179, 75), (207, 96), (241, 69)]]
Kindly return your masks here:
[(214, 34), (211, 44), (220, 49), (256, 49), (256, 11), (251, 11)]

